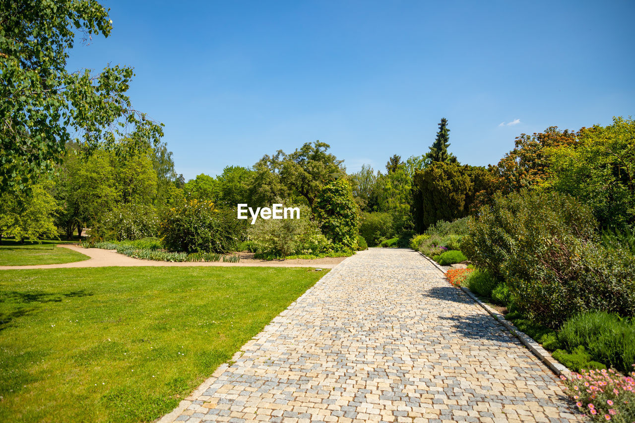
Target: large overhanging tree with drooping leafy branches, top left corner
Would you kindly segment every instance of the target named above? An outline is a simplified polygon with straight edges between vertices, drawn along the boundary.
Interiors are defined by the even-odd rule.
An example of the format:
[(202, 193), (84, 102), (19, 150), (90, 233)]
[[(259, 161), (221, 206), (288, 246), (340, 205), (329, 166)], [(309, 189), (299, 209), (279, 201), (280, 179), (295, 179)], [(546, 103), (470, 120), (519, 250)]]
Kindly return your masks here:
[[(23, 190), (60, 163), (76, 140), (90, 151), (116, 149), (128, 135), (158, 142), (162, 124), (131, 107), (131, 67), (99, 74), (67, 70), (77, 33), (84, 39), (112, 30), (95, 0), (2, 0), (0, 6), (0, 188)], [(76, 133), (76, 137), (71, 133)]]

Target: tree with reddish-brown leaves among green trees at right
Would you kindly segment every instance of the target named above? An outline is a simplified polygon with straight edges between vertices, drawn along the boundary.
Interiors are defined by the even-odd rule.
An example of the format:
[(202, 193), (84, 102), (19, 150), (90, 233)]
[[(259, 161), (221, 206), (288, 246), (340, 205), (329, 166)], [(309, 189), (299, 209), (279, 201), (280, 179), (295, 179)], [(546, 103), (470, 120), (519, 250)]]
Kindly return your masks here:
[(498, 189), (503, 194), (523, 188), (544, 187), (549, 178), (552, 148), (575, 145), (577, 133), (550, 126), (544, 133), (525, 133), (516, 137), (514, 149), (500, 159), (495, 169)]

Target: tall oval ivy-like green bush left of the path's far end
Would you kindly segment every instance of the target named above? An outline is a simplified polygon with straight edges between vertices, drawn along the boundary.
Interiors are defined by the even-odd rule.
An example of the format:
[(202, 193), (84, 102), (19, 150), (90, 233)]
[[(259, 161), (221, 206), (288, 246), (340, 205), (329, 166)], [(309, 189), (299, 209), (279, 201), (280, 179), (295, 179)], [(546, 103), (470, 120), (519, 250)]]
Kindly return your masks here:
[(316, 217), (326, 238), (335, 244), (356, 248), (359, 210), (347, 180), (339, 178), (325, 185), (319, 193), (316, 210)]

